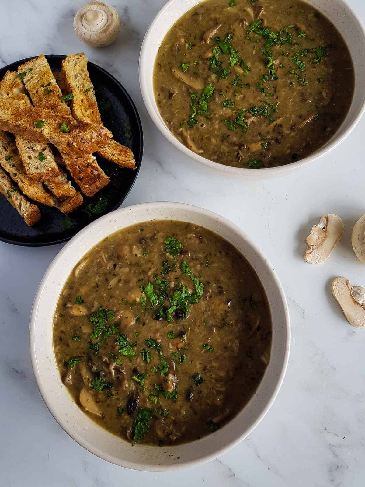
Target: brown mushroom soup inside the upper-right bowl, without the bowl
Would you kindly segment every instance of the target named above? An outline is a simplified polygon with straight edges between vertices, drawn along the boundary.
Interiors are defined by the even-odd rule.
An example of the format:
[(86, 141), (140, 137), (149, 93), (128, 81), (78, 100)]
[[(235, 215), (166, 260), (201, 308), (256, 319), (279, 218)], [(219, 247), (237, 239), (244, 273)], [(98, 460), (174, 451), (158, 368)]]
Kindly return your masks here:
[(354, 69), (336, 27), (299, 0), (207, 0), (169, 30), (154, 66), (164, 122), (237, 168), (298, 161), (345, 119)]

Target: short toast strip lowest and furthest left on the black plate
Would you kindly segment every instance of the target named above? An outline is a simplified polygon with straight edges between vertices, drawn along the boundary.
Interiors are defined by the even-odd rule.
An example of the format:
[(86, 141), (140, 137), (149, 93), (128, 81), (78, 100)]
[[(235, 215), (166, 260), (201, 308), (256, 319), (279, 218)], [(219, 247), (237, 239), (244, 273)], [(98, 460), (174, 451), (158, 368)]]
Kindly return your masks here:
[(29, 201), (18, 190), (14, 190), (12, 180), (5, 171), (0, 169), (0, 193), (18, 211), (28, 226), (34, 225), (40, 220), (41, 214), (37, 205)]

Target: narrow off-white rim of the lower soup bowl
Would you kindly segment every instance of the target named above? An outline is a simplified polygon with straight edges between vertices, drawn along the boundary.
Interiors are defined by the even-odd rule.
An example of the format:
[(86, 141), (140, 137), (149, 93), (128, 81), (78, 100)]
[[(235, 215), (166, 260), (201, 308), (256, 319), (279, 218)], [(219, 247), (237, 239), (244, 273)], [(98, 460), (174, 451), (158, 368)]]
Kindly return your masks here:
[[(131, 210), (131, 208), (135, 209), (136, 211), (138, 210), (143, 210), (146, 208), (146, 210), (153, 210), (156, 211), (161, 208), (167, 208), (167, 209), (174, 209), (178, 208), (181, 210), (189, 210), (189, 211), (194, 211), (196, 213), (199, 213), (201, 216), (207, 216), (210, 218), (215, 218), (218, 220), (219, 225), (225, 225), (228, 227), (228, 229), (235, 231), (240, 239), (243, 239), (247, 242), (247, 244), (253, 249), (253, 251), (256, 253), (258, 259), (266, 265), (267, 269), (269, 269), (269, 274), (270, 278), (274, 282), (277, 292), (280, 296), (280, 308), (282, 309), (283, 316), (284, 316), (284, 323), (283, 323), (283, 328), (285, 330), (286, 334), (286, 340), (284, 342), (284, 356), (282, 358), (282, 365), (277, 369), (276, 373), (276, 385), (274, 387), (274, 390), (270, 396), (270, 399), (267, 401), (266, 405), (262, 408), (262, 412), (257, 416), (256, 420), (251, 423), (251, 425), (246, 428), (242, 433), (238, 435), (238, 437), (230, 442), (225, 444), (222, 447), (218, 447), (214, 452), (212, 453), (207, 453), (205, 455), (202, 455), (194, 460), (187, 460), (183, 461), (179, 464), (175, 465), (155, 465), (155, 464), (148, 464), (146, 462), (144, 463), (138, 463), (138, 462), (126, 462), (123, 460), (123, 458), (119, 458), (117, 456), (110, 455), (109, 453), (106, 453), (104, 450), (100, 450), (97, 445), (94, 445), (90, 442), (88, 442), (82, 434), (80, 434), (78, 431), (76, 431), (73, 428), (73, 423), (68, 423), (62, 418), (62, 412), (57, 411), (53, 406), (49, 403), (48, 397), (52, 394), (52, 390), (45, 385), (45, 382), (41, 380), (41, 373), (40, 369), (37, 366), (37, 354), (40, 353), (41, 346), (37, 346), (37, 342), (35, 340), (35, 333), (36, 333), (36, 328), (37, 328), (37, 311), (39, 304), (41, 302), (43, 290), (45, 289), (45, 284), (47, 283), (49, 277), (52, 275), (54, 272), (54, 267), (58, 262), (62, 261), (64, 257), (67, 255), (69, 252), (70, 247), (73, 246), (73, 244), (77, 240), (82, 240), (84, 236), (92, 232), (94, 227), (100, 224), (100, 220), (104, 219), (107, 220), (110, 218), (110, 214), (112, 213), (119, 213), (120, 215), (120, 221), (123, 222), (123, 214), (126, 214), (128, 211)], [(171, 218), (172, 219), (172, 218)], [(163, 220), (163, 218), (157, 217), (156, 220)], [(186, 220), (188, 221), (188, 220)], [(129, 225), (125, 225), (129, 226)], [(113, 234), (114, 232), (124, 228), (125, 226), (121, 225), (118, 229), (113, 229), (110, 231), (110, 234)], [(202, 225), (203, 226), (203, 225)], [(217, 233), (217, 232), (216, 232)], [(105, 236), (101, 236), (99, 240), (103, 240)], [(94, 246), (93, 244), (92, 246)], [(92, 248), (92, 246), (90, 248)], [(85, 255), (83, 253), (80, 255), (80, 259), (82, 256)], [(63, 282), (63, 281), (62, 281)], [(270, 304), (270, 303), (269, 303)], [(261, 420), (265, 417), (269, 409), (274, 403), (274, 400), (279, 393), (279, 390), (281, 388), (281, 385), (284, 380), (284, 376), (286, 374), (287, 366), (288, 366), (288, 361), (289, 361), (289, 355), (290, 355), (290, 346), (291, 346), (291, 322), (290, 322), (290, 315), (289, 315), (289, 307), (288, 307), (288, 302), (286, 300), (286, 296), (284, 293), (284, 289), (282, 287), (281, 282), (279, 281), (279, 278), (274, 270), (274, 267), (272, 266), (271, 262), (268, 260), (268, 258), (264, 255), (262, 250), (252, 242), (250, 237), (248, 237), (245, 232), (243, 232), (237, 225), (233, 224), (223, 216), (209, 211), (207, 209), (201, 208), (199, 206), (194, 206), (194, 205), (187, 205), (184, 203), (174, 203), (174, 202), (154, 202), (154, 203), (141, 203), (137, 205), (131, 205), (131, 206), (125, 206), (123, 208), (119, 208), (117, 210), (114, 210), (113, 212), (110, 212), (106, 215), (103, 215), (99, 219), (91, 222), (89, 225), (87, 225), (85, 228), (83, 228), (80, 232), (78, 232), (55, 256), (53, 261), (50, 263), (48, 269), (46, 270), (42, 280), (39, 283), (37, 293), (33, 302), (31, 314), (30, 314), (30, 323), (29, 323), (29, 346), (30, 346), (30, 356), (31, 356), (31, 362), (32, 362), (32, 367), (34, 371), (34, 375), (36, 378), (37, 382), (37, 387), (39, 390), (39, 393), (47, 406), (49, 412), (52, 414), (52, 416), (55, 418), (56, 422), (61, 426), (61, 428), (66, 431), (66, 433), (74, 440), (76, 441), (80, 446), (85, 448), (86, 450), (90, 451), (94, 455), (98, 456), (99, 458), (102, 458), (103, 460), (106, 460), (114, 465), (118, 465), (121, 467), (126, 467), (126, 468), (132, 468), (135, 470), (144, 470), (144, 471), (173, 471), (173, 470), (179, 470), (182, 468), (187, 468), (187, 467), (194, 467), (198, 465), (202, 465), (206, 462), (209, 462), (215, 458), (218, 458), (220, 455), (226, 453), (227, 451), (231, 450), (235, 446), (237, 446), (244, 438), (246, 438), (255, 428), (256, 426), (261, 422)], [(46, 353), (47, 356), (49, 355), (48, 352)], [(52, 350), (52, 355), (54, 355), (54, 351)], [(234, 419), (234, 418), (233, 418)], [(111, 433), (110, 433), (111, 434)], [(196, 440), (193, 443), (197, 444), (197, 442), (200, 440)], [(153, 448), (153, 447), (152, 447)]]

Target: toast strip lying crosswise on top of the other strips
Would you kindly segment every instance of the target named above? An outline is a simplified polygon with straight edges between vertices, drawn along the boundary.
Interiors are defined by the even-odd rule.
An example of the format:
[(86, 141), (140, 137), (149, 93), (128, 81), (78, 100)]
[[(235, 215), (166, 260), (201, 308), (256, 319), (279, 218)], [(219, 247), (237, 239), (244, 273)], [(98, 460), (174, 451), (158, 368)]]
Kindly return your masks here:
[[(110, 141), (111, 132), (103, 125), (78, 122), (71, 116), (28, 106), (27, 101), (28, 98), (22, 94), (14, 98), (0, 98), (0, 130), (28, 140), (50, 141), (62, 155), (73, 154), (76, 157), (96, 152)], [(61, 132), (64, 123), (67, 133)]]

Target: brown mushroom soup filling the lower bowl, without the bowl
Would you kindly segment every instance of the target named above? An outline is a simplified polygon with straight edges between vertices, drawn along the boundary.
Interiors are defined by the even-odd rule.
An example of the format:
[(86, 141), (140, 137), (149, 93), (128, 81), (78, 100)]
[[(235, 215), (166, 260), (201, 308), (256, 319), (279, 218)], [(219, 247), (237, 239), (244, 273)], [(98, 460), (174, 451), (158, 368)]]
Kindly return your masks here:
[(196, 440), (232, 419), (269, 363), (256, 272), (219, 235), (154, 220), (75, 266), (54, 316), (55, 357), (77, 405), (132, 443)]

